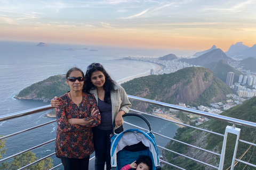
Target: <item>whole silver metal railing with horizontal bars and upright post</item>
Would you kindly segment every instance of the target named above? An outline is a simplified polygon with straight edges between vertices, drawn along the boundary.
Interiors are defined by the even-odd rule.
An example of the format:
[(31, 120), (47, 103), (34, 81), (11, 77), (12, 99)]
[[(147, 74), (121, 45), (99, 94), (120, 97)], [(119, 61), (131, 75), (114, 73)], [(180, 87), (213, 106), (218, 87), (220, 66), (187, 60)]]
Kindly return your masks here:
[[(206, 112), (202, 112), (202, 111), (197, 111), (195, 109), (189, 109), (189, 108), (186, 108), (186, 107), (180, 107), (180, 106), (176, 106), (176, 105), (171, 105), (171, 104), (166, 104), (166, 103), (162, 103), (162, 102), (159, 102), (159, 101), (155, 101), (155, 100), (149, 100), (149, 99), (145, 99), (145, 98), (140, 98), (140, 97), (135, 97), (135, 96), (130, 96), (128, 95), (129, 99), (131, 100), (137, 100), (137, 101), (140, 101), (140, 102), (145, 102), (145, 103), (148, 103), (148, 104), (154, 104), (154, 105), (158, 105), (158, 106), (161, 106), (161, 107), (165, 107), (165, 108), (171, 108), (171, 109), (175, 109), (175, 110), (178, 110), (178, 111), (182, 111), (182, 112), (186, 112), (186, 113), (191, 113), (191, 114), (195, 114), (195, 115), (198, 115), (198, 116), (205, 116), (205, 117), (209, 117), (209, 118), (214, 118), (216, 120), (220, 120), (220, 121), (226, 121), (226, 122), (229, 122), (229, 123), (233, 123), (233, 126), (227, 126), (226, 127), (226, 131), (223, 132), (223, 134), (220, 134), (220, 133), (216, 133), (216, 132), (212, 132), (212, 131), (209, 131), (209, 130), (206, 130), (206, 129), (202, 129), (202, 128), (198, 128), (196, 126), (191, 126), (191, 125), (188, 125), (188, 124), (183, 124), (183, 123), (179, 123), (179, 122), (175, 122), (175, 121), (171, 121), (171, 120), (168, 120), (166, 118), (163, 118), (163, 117), (158, 117), (158, 116), (155, 116), (155, 115), (152, 115), (152, 114), (148, 114), (148, 113), (144, 113), (144, 112), (141, 112), (141, 111), (136, 111), (134, 109), (130, 109), (130, 111), (132, 112), (137, 112), (137, 113), (140, 113), (140, 114), (145, 114), (145, 115), (148, 115), (148, 116), (153, 116), (153, 117), (156, 117), (156, 118), (159, 118), (161, 120), (164, 120), (164, 121), (168, 121), (168, 122), (172, 122), (172, 123), (175, 123), (175, 124), (179, 124), (179, 125), (183, 125), (183, 126), (187, 126), (189, 128), (193, 128), (193, 129), (196, 129), (196, 130), (200, 130), (200, 131), (203, 131), (203, 132), (207, 132), (207, 133), (211, 133), (211, 134), (215, 134), (215, 135), (219, 135), (220, 137), (223, 137), (223, 145), (222, 145), (222, 150), (221, 150), (221, 154), (219, 154), (218, 152), (214, 152), (214, 151), (211, 151), (211, 150), (207, 150), (207, 149), (204, 149), (204, 148), (201, 148), (201, 147), (197, 147), (197, 146), (194, 146), (194, 145), (190, 145), (189, 143), (186, 143), (186, 142), (182, 142), (182, 141), (179, 141), (179, 140), (176, 140), (176, 139), (173, 139), (173, 138), (170, 138), (170, 137), (166, 137), (165, 135), (163, 134), (159, 134), (159, 133), (156, 133), (154, 132), (155, 135), (158, 135), (159, 137), (163, 137), (163, 138), (166, 138), (166, 139), (169, 139), (171, 141), (174, 141), (174, 142), (179, 142), (179, 143), (182, 143), (183, 145), (186, 145), (188, 147), (192, 147), (192, 148), (195, 148), (195, 149), (199, 149), (201, 151), (204, 151), (204, 152), (207, 152), (207, 153), (210, 153), (210, 154), (213, 154), (217, 157), (220, 157), (220, 162), (219, 162), (219, 165), (211, 165), (210, 163), (205, 163), (205, 162), (202, 162), (201, 160), (197, 160), (195, 158), (192, 158), (192, 157), (189, 157), (189, 156), (186, 156), (186, 155), (183, 155), (183, 154), (180, 154), (178, 152), (175, 152), (173, 150), (169, 150), (169, 149), (166, 149), (165, 147), (163, 146), (158, 146), (158, 148), (161, 148), (163, 150), (166, 150), (166, 151), (169, 151), (169, 152), (172, 152), (174, 154), (177, 154), (183, 158), (186, 158), (186, 159), (189, 159), (189, 160), (193, 160), (199, 164), (202, 164), (202, 165), (205, 165), (207, 166), (208, 168), (212, 168), (212, 169), (223, 169), (223, 164), (224, 164), (224, 161), (225, 161), (225, 150), (226, 150), (226, 145), (227, 145), (227, 135), (228, 133), (232, 133), (232, 134), (235, 134), (237, 136), (236, 138), (236, 145), (234, 147), (234, 154), (233, 154), (233, 159), (232, 159), (232, 163), (231, 163), (231, 167), (230, 169), (233, 170), (234, 169), (234, 166), (235, 166), (235, 162), (240, 162), (240, 163), (243, 163), (243, 164), (246, 164), (246, 165), (249, 165), (249, 166), (252, 166), (252, 167), (256, 167), (256, 165), (254, 164), (251, 164), (251, 163), (247, 163), (247, 162), (244, 162), (243, 160), (240, 160), (240, 159), (237, 159), (236, 158), (236, 152), (237, 152), (237, 147), (238, 147), (238, 141), (239, 142), (243, 142), (243, 143), (246, 143), (247, 145), (251, 145), (251, 146), (256, 146), (255, 143), (252, 143), (252, 142), (248, 142), (248, 141), (244, 141), (244, 140), (241, 140), (239, 139), (239, 134), (240, 134), (240, 131), (241, 129), (238, 129), (238, 128), (235, 128), (235, 124), (237, 125), (242, 125), (242, 126), (247, 126), (247, 127), (250, 127), (250, 128), (255, 128), (256, 129), (256, 123), (253, 123), (253, 122), (248, 122), (248, 121), (243, 121), (243, 120), (239, 120), (239, 119), (236, 119), (236, 118), (231, 118), (231, 117), (227, 117), (227, 116), (222, 116), (222, 115), (217, 115), (217, 114), (212, 114), (212, 113), (206, 113)], [(13, 114), (9, 114), (9, 115), (3, 115), (3, 116), (0, 116), (0, 122), (2, 121), (6, 121), (6, 120), (12, 120), (13, 118), (17, 118), (17, 117), (21, 117), (21, 116), (26, 116), (26, 115), (30, 115), (30, 114), (34, 114), (34, 113), (38, 113), (38, 112), (42, 112), (42, 111), (47, 111), (49, 109), (52, 109), (52, 107), (50, 105), (47, 105), (47, 106), (42, 106), (42, 107), (38, 107), (38, 108), (34, 108), (34, 109), (28, 109), (26, 111), (22, 111), (22, 112), (17, 112), (17, 113), (13, 113)], [(39, 128), (41, 126), (44, 126), (44, 125), (47, 125), (47, 124), (51, 124), (53, 122), (56, 122), (55, 121), (51, 121), (51, 122), (47, 122), (47, 123), (44, 123), (44, 124), (41, 124), (41, 125), (38, 125), (38, 126), (34, 126), (33, 128), (29, 128), (29, 129), (26, 129), (26, 130), (22, 130), (22, 131), (19, 131), (19, 132), (15, 132), (15, 133), (12, 133), (12, 134), (8, 134), (8, 135), (5, 135), (4, 137), (0, 137), (0, 140), (2, 139), (6, 139), (6, 138), (9, 138), (9, 137), (12, 137), (14, 135), (17, 135), (17, 134), (20, 134), (20, 133), (23, 133), (23, 132), (27, 132), (29, 130), (33, 130), (33, 129), (36, 129), (36, 128)], [(137, 126), (137, 125), (134, 125), (132, 123), (129, 123), (129, 122), (125, 122), (126, 124), (129, 124), (129, 125), (132, 125), (134, 126), (135, 128), (138, 128), (138, 129), (142, 129), (142, 130), (146, 130), (146, 129), (143, 129), (141, 128), (140, 126)], [(1, 134), (0, 134), (1, 135)], [(47, 142), (44, 142), (44, 143), (41, 143), (35, 147), (32, 147), (32, 148), (29, 148), (27, 150), (23, 150), (21, 152), (18, 152), (17, 154), (14, 154), (12, 156), (9, 156), (9, 157), (5, 157), (3, 159), (0, 159), (0, 163), (1, 162), (4, 162), (10, 158), (13, 158), (15, 156), (18, 156), (20, 154), (23, 154), (29, 150), (33, 150), (35, 148), (38, 148), (38, 147), (41, 147), (41, 146), (44, 146), (46, 145), (47, 143), (50, 143), (50, 142), (53, 142), (55, 141), (55, 139), (52, 139), (52, 140), (49, 140)], [(33, 164), (36, 164), (38, 163), (39, 161), (47, 158), (47, 157), (50, 157), (52, 155), (54, 155), (55, 152), (51, 153), (50, 155), (47, 155), (41, 159), (38, 159), (36, 160), (34, 163), (31, 163), (29, 165), (26, 165), (24, 167), (21, 167), (20, 169), (24, 169), (24, 168), (27, 168), (29, 167), (30, 165), (33, 165)], [(91, 159), (93, 159), (94, 157), (92, 157)], [(91, 160), (90, 159), (90, 160)], [(177, 165), (173, 165), (171, 163), (168, 163), (166, 162), (165, 160), (162, 160), (160, 159), (160, 161), (164, 164), (167, 164), (167, 165), (171, 165), (175, 168), (178, 168), (178, 169), (184, 169), (182, 167), (179, 167)], [(61, 164), (51, 168), (51, 169), (55, 169), (57, 167), (59, 167)]]

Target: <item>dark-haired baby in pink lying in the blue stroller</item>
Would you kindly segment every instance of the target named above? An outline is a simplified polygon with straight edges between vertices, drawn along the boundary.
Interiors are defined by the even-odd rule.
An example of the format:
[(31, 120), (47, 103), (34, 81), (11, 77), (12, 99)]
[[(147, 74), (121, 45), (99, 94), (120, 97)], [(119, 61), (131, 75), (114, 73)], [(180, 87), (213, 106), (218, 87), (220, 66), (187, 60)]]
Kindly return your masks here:
[(135, 168), (136, 170), (151, 170), (152, 161), (151, 158), (146, 155), (140, 155), (138, 160), (135, 160), (133, 163), (125, 165), (121, 170), (127, 170)]

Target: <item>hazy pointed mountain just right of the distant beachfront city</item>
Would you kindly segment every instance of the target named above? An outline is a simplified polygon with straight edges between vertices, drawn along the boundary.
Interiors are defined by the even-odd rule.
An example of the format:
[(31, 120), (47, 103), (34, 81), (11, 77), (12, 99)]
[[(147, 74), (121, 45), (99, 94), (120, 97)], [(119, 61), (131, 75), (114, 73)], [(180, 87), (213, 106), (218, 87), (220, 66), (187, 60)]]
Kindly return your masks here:
[(213, 49), (210, 52), (196, 58), (182, 58), (179, 61), (186, 62), (192, 65), (204, 66), (212, 62), (217, 62), (219, 60), (234, 61), (232, 58), (228, 57), (220, 48)]

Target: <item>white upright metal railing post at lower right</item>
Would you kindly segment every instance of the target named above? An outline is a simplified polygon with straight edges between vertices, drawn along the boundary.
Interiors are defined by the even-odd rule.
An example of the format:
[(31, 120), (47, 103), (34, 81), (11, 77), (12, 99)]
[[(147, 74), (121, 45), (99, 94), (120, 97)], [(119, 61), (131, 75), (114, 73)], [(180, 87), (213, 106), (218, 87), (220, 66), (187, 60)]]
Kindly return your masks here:
[(221, 156), (220, 156), (219, 170), (222, 170), (223, 165), (224, 165), (228, 133), (236, 134), (236, 146), (234, 148), (234, 154), (233, 154), (233, 159), (232, 159), (232, 164), (231, 164), (230, 170), (234, 169), (236, 152), (237, 152), (237, 147), (238, 147), (238, 140), (239, 140), (239, 137), (240, 137), (240, 131), (241, 131), (241, 129), (235, 128), (235, 124), (233, 124), (233, 126), (227, 126), (226, 127), (225, 134), (224, 134), (224, 139), (223, 139), (222, 150), (221, 150)]

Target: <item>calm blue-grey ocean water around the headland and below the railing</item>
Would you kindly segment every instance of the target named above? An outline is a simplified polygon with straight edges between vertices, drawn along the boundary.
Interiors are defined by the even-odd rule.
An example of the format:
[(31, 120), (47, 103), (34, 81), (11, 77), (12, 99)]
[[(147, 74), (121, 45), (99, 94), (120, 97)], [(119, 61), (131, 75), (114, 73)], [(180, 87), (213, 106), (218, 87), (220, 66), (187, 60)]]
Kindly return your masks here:
[[(39, 43), (39, 42), (38, 42)], [(23, 43), (0, 41), (0, 115), (7, 115), (15, 112), (39, 106), (49, 105), (38, 100), (17, 100), (13, 97), (22, 89), (33, 83), (42, 81), (52, 75), (66, 74), (71, 67), (79, 67), (84, 72), (86, 66), (98, 62), (101, 63), (111, 78), (115, 81), (122, 80), (133, 75), (150, 72), (154, 65), (147, 62), (120, 60), (123, 57), (161, 57), (167, 54), (186, 55), (178, 50), (121, 48), (110, 46), (91, 46), (74, 44), (48, 44), (49, 47), (37, 47), (38, 43)], [(44, 42), (45, 43), (45, 42)], [(73, 48), (75, 50), (67, 50)], [(82, 49), (88, 48), (88, 50)], [(90, 51), (94, 49), (94, 51)], [(95, 51), (97, 50), (97, 51)], [(54, 120), (44, 117), (49, 111), (15, 118), (14, 120), (0, 122), (0, 135), (11, 134), (20, 130), (31, 128)], [(146, 116), (151, 123), (153, 131), (173, 137), (179, 128), (173, 123), (158, 120)], [(127, 122), (140, 124), (140, 120), (132, 117), (126, 118)], [(143, 126), (143, 125), (142, 125)], [(145, 124), (145, 128), (146, 128)], [(125, 129), (130, 129), (128, 125)], [(52, 123), (41, 128), (21, 133), (6, 139), (6, 154), (3, 158), (13, 155), (16, 152), (39, 145), (56, 137), (57, 124)], [(165, 146), (169, 140), (156, 137), (158, 145)], [(54, 142), (43, 147), (34, 149), (38, 157), (44, 157), (54, 152)], [(60, 159), (52, 156), (54, 166), (60, 164)], [(59, 168), (62, 169), (62, 168)], [(90, 165), (93, 169), (93, 165)]]

